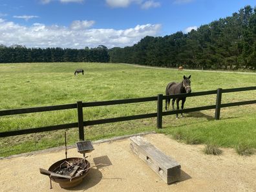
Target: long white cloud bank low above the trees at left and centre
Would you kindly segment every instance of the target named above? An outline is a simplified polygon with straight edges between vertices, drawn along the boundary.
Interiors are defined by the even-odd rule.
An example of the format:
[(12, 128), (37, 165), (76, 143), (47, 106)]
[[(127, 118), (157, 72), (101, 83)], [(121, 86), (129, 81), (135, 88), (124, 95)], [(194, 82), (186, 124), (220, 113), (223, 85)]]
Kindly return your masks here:
[[(87, 21), (90, 23), (90, 21)], [(89, 26), (88, 23), (87, 27)], [(77, 25), (74, 25), (76, 23)], [(134, 45), (145, 36), (157, 36), (161, 25), (137, 25), (134, 28), (85, 28), (83, 21), (75, 21), (72, 27), (34, 23), (30, 27), (0, 19), (0, 44), (25, 45), (26, 47), (84, 48), (105, 45), (125, 47)], [(91, 22), (93, 23), (93, 22)]]

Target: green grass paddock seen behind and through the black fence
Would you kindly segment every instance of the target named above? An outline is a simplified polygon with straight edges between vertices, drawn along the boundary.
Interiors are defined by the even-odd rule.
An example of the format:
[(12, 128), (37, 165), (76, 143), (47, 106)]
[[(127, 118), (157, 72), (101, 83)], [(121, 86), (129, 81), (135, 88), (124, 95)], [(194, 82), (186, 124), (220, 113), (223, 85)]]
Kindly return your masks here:
[[(74, 70), (83, 68), (85, 75), (74, 76)], [(0, 110), (41, 107), (76, 103), (76, 101), (103, 101), (142, 98), (165, 94), (171, 81), (182, 81), (191, 74), (193, 92), (217, 88), (255, 86), (256, 74), (200, 72), (176, 69), (153, 69), (111, 63), (17, 63), (0, 64)], [(227, 93), (222, 103), (255, 100), (256, 91)], [(216, 96), (187, 98), (185, 108), (214, 105)], [(165, 104), (165, 103), (164, 103)], [(113, 118), (156, 112), (156, 101), (111, 105), (83, 109), (84, 120)], [(144, 131), (182, 138), (194, 138), (197, 143), (222, 147), (246, 145), (256, 149), (256, 105), (221, 109), (219, 121), (213, 110), (191, 112), (178, 120), (164, 116), (163, 129), (156, 129), (156, 118), (109, 123), (85, 127), (85, 138), (98, 140)], [(77, 122), (76, 109), (38, 112), (0, 117), (0, 131), (43, 127)], [(78, 141), (78, 130), (67, 130), (68, 144)], [(64, 145), (64, 130), (0, 138), (0, 156), (36, 151)]]

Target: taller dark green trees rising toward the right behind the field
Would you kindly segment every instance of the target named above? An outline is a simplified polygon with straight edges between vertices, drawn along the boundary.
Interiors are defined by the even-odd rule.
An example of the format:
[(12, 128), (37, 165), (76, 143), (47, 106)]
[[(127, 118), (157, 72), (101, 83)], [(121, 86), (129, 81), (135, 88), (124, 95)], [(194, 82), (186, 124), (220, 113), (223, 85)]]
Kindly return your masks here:
[(256, 8), (245, 6), (230, 17), (188, 34), (144, 37), (132, 47), (109, 49), (112, 63), (193, 69), (256, 69)]

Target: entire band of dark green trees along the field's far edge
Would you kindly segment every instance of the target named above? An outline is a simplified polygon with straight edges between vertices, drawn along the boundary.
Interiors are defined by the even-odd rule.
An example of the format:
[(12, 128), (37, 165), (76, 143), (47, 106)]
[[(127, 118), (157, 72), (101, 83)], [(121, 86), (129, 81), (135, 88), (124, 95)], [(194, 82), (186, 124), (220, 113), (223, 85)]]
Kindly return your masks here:
[(26, 48), (0, 45), (0, 63), (111, 62), (191, 69), (256, 69), (256, 7), (184, 34), (146, 36), (131, 47)]

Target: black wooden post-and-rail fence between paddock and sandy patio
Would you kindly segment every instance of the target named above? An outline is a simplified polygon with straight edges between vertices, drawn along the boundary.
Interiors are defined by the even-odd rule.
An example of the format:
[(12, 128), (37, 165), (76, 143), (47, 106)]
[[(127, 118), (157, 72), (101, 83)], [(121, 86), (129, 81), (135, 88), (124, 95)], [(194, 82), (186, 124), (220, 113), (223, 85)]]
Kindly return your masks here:
[[(253, 91), (256, 90), (256, 87), (242, 87), (235, 89), (217, 89), (215, 91), (202, 91), (202, 92), (191, 92), (189, 94), (174, 94), (171, 96), (164, 96), (163, 94), (158, 94), (158, 96), (148, 97), (148, 98), (133, 98), (133, 99), (125, 99), (125, 100), (112, 100), (112, 101), (96, 101), (96, 102), (86, 102), (78, 101), (77, 103), (67, 104), (67, 105), (54, 105), (47, 107), (33, 107), (26, 109), (11, 109), (11, 110), (3, 110), (0, 111), (0, 116), (14, 115), (14, 114), (26, 114), (32, 112), (44, 112), (44, 111), (58, 111), (65, 109), (77, 109), (78, 110), (78, 122), (75, 123), (66, 123), (61, 125), (52, 125), (47, 127), (37, 127), (31, 129), (21, 129), (16, 131), (6, 131), (0, 132), (0, 138), (7, 136), (15, 136), (20, 134), (30, 134), (30, 133), (40, 133), (45, 131), (54, 131), (59, 129), (70, 129), (77, 128), (79, 129), (79, 139), (85, 140), (84, 136), (84, 127), (88, 125), (98, 125), (103, 123), (113, 123), (113, 122), (123, 122), (129, 120), (138, 120), (143, 118), (157, 118), (157, 128), (162, 128), (162, 116), (167, 116), (171, 114), (181, 113), (181, 112), (195, 112), (195, 111), (203, 111), (208, 109), (215, 109), (215, 120), (220, 119), (220, 109), (223, 107), (232, 107), (237, 105), (248, 105), (256, 103), (256, 100), (250, 101), (239, 101), (233, 103), (221, 103), (222, 93), (228, 92), (239, 92), (239, 91)], [(193, 96), (204, 96), (209, 94), (216, 94), (216, 105), (207, 105), (202, 107), (193, 107), (189, 109), (179, 109), (175, 111), (163, 111), (163, 101), (167, 98), (180, 98), (180, 97), (193, 97)], [(83, 120), (83, 107), (96, 107), (96, 106), (104, 106), (104, 105), (119, 105), (125, 103), (139, 103), (139, 102), (147, 102), (147, 101), (157, 101), (157, 111), (148, 114), (137, 114), (133, 116), (122, 116), (117, 118), (107, 118), (100, 120)], [(1, 127), (0, 127), (1, 130)]]

